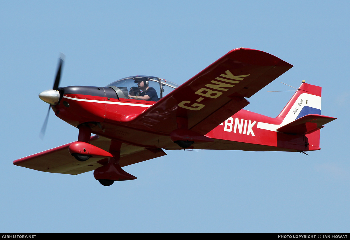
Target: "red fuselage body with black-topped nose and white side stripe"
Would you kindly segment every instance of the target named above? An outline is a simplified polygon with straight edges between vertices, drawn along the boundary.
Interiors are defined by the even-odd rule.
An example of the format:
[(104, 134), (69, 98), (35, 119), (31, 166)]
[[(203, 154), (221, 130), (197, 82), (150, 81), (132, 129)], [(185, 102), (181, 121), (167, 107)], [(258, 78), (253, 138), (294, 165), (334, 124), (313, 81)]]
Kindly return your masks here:
[[(133, 119), (155, 102), (118, 98), (116, 91), (110, 87), (70, 86), (59, 91), (63, 91), (62, 99), (52, 109), (57, 117), (75, 127), (88, 125), (94, 134), (135, 146), (180, 149), (170, 140), (169, 134), (156, 130), (157, 122), (147, 122), (147, 128), (133, 125)], [(262, 123), (275, 125), (276, 128), (264, 129)], [(247, 151), (319, 149), (318, 146), (310, 149), (308, 139), (303, 134), (278, 132), (276, 129), (281, 123), (282, 119), (279, 118), (240, 110), (205, 135), (214, 142), (195, 143), (190, 148)]]

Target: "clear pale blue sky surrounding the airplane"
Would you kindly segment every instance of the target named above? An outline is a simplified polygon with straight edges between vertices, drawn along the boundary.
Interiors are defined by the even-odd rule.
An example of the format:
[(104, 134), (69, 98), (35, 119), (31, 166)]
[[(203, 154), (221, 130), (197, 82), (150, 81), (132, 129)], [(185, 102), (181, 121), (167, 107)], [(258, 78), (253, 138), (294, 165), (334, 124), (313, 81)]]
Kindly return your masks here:
[[(348, 1), (2, 1), (0, 232), (349, 232)], [(322, 86), (321, 150), (167, 151), (104, 187), (92, 172), (50, 174), (18, 158), (77, 140), (50, 114), (38, 134), (59, 52), (60, 86), (151, 75), (182, 84), (238, 47), (294, 65), (248, 99), (276, 117), (302, 80)]]

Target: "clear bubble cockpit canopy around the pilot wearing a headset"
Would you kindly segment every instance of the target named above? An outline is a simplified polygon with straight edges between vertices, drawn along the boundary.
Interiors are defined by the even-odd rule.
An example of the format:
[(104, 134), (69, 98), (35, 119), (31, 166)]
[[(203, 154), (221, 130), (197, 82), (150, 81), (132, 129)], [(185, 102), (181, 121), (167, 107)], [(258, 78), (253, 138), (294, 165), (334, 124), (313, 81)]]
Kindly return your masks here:
[[(143, 82), (140, 86), (140, 82)], [(147, 85), (148, 88), (145, 90), (143, 85)], [(152, 76), (131, 76), (119, 79), (106, 87), (110, 87), (116, 91), (118, 98), (134, 99), (133, 96), (143, 96), (147, 92), (153, 92), (153, 97), (149, 101), (158, 101), (168, 93), (179, 87), (179, 85), (172, 83), (168, 80)], [(154, 94), (157, 93), (157, 96)], [(144, 92), (143, 92), (143, 91)]]

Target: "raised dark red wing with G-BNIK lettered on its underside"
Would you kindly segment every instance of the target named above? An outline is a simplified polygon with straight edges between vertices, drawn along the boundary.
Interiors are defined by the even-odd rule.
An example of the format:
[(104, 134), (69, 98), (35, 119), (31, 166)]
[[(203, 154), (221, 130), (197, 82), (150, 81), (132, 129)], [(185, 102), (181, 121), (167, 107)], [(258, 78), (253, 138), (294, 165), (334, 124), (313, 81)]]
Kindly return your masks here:
[(248, 105), (246, 97), (251, 97), (292, 67), (266, 52), (234, 49), (129, 124), (163, 134), (176, 128), (207, 134)]

